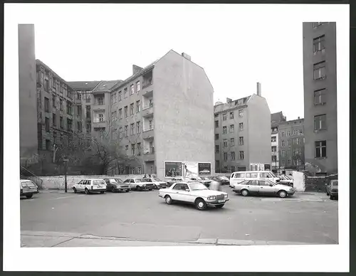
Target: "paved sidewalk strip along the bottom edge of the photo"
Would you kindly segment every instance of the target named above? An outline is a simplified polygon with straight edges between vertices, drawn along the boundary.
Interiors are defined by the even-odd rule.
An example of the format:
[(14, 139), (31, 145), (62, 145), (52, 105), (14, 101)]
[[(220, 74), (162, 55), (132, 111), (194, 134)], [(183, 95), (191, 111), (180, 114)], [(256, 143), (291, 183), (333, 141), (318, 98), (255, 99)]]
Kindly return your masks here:
[(226, 240), (205, 238), (193, 241), (174, 242), (159, 240), (133, 240), (130, 238), (98, 237), (77, 233), (43, 231), (21, 231), (21, 247), (117, 247), (117, 246), (197, 246), (197, 245), (313, 245), (312, 243), (293, 243), (278, 240)]

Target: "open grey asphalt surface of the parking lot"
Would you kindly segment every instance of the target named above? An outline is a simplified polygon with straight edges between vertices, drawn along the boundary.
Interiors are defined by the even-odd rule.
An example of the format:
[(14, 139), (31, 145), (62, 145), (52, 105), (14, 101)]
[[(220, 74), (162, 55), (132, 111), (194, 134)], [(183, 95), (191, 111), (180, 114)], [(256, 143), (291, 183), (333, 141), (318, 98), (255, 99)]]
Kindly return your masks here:
[(217, 238), (291, 244), (338, 242), (337, 201), (330, 201), (325, 193), (243, 197), (228, 186), (223, 189), (230, 201), (224, 208), (206, 211), (190, 205), (167, 205), (157, 196), (158, 191), (90, 195), (42, 191), (31, 199), (21, 199), (21, 231), (159, 242)]

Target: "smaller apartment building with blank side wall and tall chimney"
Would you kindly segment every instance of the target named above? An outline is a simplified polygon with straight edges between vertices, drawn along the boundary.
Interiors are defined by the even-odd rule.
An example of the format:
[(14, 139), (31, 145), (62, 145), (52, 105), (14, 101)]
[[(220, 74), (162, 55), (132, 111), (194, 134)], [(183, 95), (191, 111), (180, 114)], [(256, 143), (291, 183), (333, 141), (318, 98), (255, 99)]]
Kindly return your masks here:
[(215, 171), (271, 169), (271, 112), (257, 95), (214, 106)]

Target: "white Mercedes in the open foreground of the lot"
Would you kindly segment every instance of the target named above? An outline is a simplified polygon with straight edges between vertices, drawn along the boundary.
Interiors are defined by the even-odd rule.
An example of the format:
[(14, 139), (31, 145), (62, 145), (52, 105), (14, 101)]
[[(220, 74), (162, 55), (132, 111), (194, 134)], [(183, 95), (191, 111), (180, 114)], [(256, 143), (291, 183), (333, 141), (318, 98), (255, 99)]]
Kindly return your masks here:
[(158, 196), (164, 198), (167, 204), (172, 204), (174, 201), (192, 203), (198, 210), (213, 206), (221, 208), (226, 201), (229, 201), (227, 193), (209, 190), (199, 182), (174, 183), (169, 188), (159, 189)]

